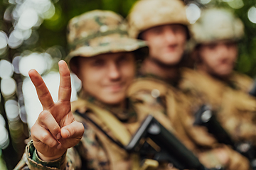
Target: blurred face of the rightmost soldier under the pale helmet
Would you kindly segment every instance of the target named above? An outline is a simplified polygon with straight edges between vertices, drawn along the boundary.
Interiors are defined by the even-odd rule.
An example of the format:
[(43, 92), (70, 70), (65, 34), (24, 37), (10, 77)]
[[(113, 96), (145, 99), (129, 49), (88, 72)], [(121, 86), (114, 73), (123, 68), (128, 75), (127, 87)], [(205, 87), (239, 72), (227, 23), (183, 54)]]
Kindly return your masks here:
[(208, 74), (227, 77), (233, 72), (238, 55), (236, 42), (218, 41), (199, 47), (201, 69)]

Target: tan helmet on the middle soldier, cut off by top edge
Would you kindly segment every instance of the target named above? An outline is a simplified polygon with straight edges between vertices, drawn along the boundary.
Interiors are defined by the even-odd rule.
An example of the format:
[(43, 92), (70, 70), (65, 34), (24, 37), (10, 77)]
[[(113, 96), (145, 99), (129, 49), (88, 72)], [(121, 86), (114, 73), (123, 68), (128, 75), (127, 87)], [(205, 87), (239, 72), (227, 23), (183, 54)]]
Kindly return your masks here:
[(129, 35), (138, 38), (139, 33), (169, 23), (188, 25), (186, 7), (181, 0), (140, 0), (128, 15)]

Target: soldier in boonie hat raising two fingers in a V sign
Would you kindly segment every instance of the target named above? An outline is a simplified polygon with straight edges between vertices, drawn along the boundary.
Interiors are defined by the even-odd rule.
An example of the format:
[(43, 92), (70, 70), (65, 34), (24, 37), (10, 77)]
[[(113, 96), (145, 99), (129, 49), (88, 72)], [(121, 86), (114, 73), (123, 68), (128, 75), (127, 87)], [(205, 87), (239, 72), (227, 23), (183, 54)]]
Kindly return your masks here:
[[(70, 104), (70, 72), (63, 61), (59, 62), (57, 103), (38, 72), (29, 72), (43, 111), (31, 128), (32, 141), (16, 169), (139, 169), (137, 154), (127, 153), (122, 145), (126, 146), (139, 128), (139, 116), (156, 113), (154, 108), (140, 109), (138, 116), (142, 107), (126, 98), (135, 62), (148, 50), (146, 43), (128, 38), (126, 22), (112, 11), (77, 16), (68, 31), (71, 52), (67, 62), (82, 81), (80, 97)], [(75, 111), (79, 113), (74, 117)], [(164, 114), (158, 119), (172, 130)], [(153, 165), (171, 169), (168, 164)]]

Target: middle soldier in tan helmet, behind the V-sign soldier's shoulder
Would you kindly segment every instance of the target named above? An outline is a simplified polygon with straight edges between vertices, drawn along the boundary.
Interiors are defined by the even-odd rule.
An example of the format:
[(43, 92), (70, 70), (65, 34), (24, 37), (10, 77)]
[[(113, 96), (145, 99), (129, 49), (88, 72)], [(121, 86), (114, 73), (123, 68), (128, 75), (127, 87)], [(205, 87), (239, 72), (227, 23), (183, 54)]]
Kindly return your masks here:
[[(178, 90), (181, 64), (189, 39), (183, 2), (137, 1), (129, 13), (128, 21), (132, 38), (146, 40), (149, 45), (149, 57), (144, 60), (139, 78), (130, 86), (128, 95), (134, 101), (161, 108), (171, 120), (177, 137), (207, 167), (248, 169), (248, 162), (244, 157), (225, 145), (218, 144), (206, 129), (193, 126), (191, 109)], [(153, 96), (154, 100), (149, 96)]]

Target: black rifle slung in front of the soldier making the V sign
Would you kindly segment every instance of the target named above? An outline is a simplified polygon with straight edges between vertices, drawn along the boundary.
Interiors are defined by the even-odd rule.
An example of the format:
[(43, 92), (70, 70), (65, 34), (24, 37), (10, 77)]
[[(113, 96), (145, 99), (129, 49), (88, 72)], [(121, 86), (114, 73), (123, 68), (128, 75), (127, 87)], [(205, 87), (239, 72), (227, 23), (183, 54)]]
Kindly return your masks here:
[(146, 117), (125, 149), (128, 152), (139, 152), (142, 157), (151, 154), (152, 159), (170, 162), (178, 169), (208, 170), (152, 115)]

